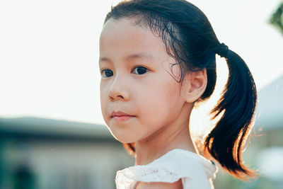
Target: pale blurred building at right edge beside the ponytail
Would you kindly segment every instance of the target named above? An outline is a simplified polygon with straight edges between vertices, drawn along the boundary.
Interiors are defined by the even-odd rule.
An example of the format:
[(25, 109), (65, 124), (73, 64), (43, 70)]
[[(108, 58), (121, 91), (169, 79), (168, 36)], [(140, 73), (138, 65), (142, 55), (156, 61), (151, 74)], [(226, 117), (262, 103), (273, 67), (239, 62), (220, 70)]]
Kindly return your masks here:
[(283, 76), (260, 90), (255, 128), (262, 133), (256, 156), (260, 173), (272, 183), (267, 188), (283, 188)]

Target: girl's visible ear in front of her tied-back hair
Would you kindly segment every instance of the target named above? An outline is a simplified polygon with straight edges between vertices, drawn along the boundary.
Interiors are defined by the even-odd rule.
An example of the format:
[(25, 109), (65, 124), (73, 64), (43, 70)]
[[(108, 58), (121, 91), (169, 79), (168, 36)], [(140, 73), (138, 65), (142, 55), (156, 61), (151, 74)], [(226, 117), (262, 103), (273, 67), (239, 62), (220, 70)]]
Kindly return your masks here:
[(187, 103), (194, 103), (207, 88), (207, 69), (192, 71), (185, 75), (182, 84), (182, 95)]

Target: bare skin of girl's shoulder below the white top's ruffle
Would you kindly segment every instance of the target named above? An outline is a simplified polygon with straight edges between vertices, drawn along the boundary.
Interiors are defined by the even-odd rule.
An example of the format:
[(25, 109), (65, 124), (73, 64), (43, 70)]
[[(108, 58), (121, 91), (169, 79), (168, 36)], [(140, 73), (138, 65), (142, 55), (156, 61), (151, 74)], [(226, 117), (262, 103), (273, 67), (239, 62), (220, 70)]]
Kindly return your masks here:
[(141, 182), (137, 185), (137, 189), (183, 189), (183, 184), (181, 179), (176, 181), (175, 183), (161, 183), (161, 182), (154, 182), (154, 183), (144, 183)]

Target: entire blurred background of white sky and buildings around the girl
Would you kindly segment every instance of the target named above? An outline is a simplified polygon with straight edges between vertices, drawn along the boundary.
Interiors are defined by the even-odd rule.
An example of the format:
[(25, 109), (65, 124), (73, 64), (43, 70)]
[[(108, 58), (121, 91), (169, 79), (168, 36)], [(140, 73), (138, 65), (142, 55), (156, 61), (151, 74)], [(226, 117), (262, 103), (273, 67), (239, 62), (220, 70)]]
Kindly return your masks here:
[[(98, 39), (117, 2), (0, 1), (0, 189), (112, 189), (116, 171), (134, 165), (100, 112)], [(243, 159), (260, 176), (238, 181), (219, 169), (215, 188), (283, 188), (283, 2), (190, 2), (258, 87)], [(195, 136), (213, 125), (204, 115), (227, 78), (216, 61), (216, 91), (192, 113)]]

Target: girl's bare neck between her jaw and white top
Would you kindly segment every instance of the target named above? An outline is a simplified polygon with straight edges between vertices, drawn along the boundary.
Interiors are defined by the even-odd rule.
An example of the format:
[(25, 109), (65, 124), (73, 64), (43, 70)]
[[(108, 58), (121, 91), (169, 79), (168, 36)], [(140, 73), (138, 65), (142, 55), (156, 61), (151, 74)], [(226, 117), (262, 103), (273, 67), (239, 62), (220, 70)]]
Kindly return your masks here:
[[(189, 118), (187, 112), (184, 113), (183, 118)], [(163, 127), (146, 139), (135, 142), (136, 165), (149, 164), (172, 149), (185, 149), (197, 153), (190, 137), (190, 120), (180, 120), (182, 119)]]

